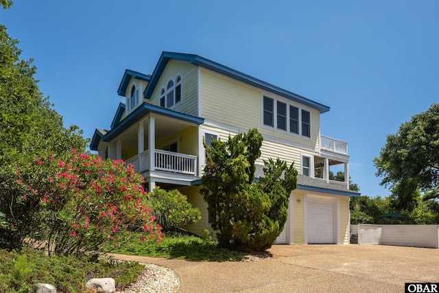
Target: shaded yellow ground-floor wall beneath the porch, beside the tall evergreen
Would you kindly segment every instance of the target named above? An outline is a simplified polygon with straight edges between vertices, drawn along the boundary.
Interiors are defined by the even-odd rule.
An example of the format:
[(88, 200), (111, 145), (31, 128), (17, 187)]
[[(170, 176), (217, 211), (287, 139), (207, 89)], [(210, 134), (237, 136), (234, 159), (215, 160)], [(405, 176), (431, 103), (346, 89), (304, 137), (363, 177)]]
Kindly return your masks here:
[(191, 233), (202, 235), (203, 230), (207, 228), (207, 204), (200, 194), (200, 187), (185, 186), (178, 188), (178, 190), (187, 196), (187, 201), (190, 202), (193, 207), (198, 207), (201, 212), (201, 220), (198, 220), (195, 224), (186, 226), (185, 229)]

